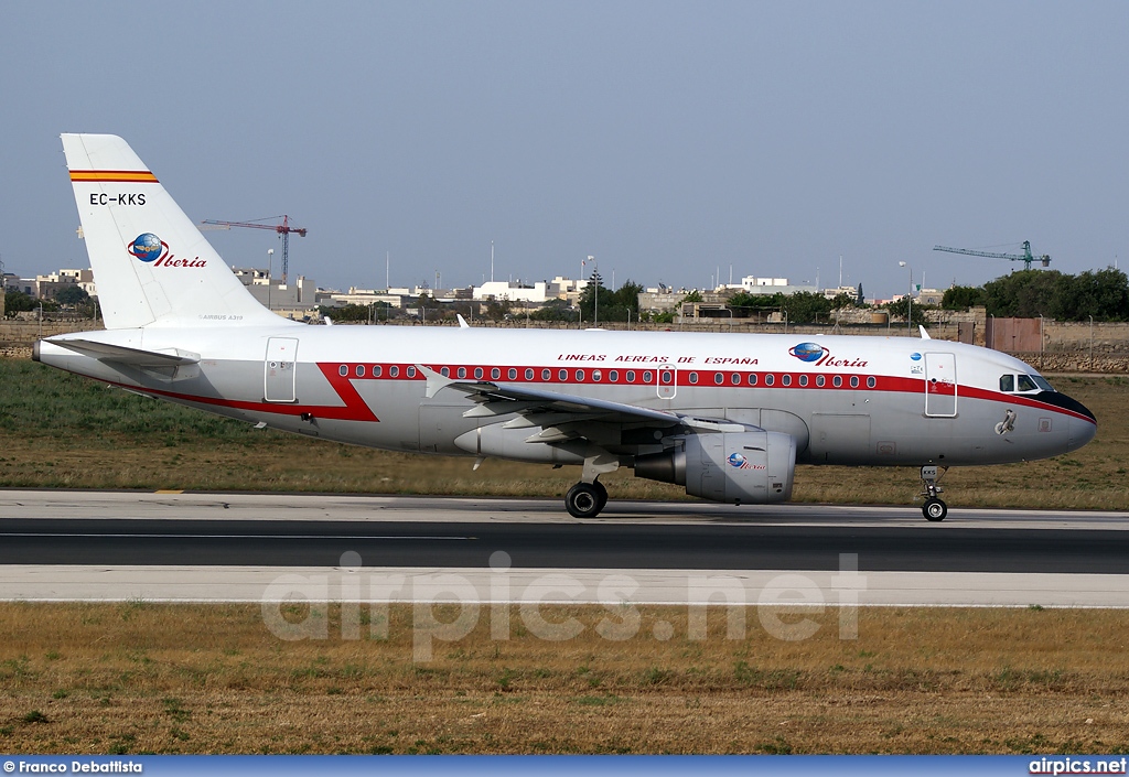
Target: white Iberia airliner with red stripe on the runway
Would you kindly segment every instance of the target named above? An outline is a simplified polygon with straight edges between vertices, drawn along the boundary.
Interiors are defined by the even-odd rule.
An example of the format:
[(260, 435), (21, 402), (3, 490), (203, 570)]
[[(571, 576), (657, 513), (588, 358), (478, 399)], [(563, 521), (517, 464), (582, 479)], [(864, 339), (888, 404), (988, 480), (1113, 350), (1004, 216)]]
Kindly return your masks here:
[[(903, 337), (325, 326), (260, 305), (124, 140), (61, 136), (105, 320), (34, 358), (260, 427), (425, 454), (621, 466), (719, 503), (790, 498), (797, 463), (949, 466), (1075, 451), (1094, 414), (1006, 353)], [(846, 475), (850, 477), (850, 475)]]

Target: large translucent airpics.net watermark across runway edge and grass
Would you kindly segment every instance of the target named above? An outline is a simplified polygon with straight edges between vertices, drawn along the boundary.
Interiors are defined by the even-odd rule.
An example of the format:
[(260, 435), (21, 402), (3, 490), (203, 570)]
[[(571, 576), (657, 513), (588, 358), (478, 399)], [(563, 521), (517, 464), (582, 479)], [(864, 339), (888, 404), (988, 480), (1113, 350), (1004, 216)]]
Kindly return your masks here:
[[(588, 628), (602, 639), (623, 641), (639, 636), (642, 629), (638, 603), (645, 584), (630, 574), (589, 574), (585, 579), (563, 571), (517, 576), (509, 555), (500, 550), (490, 556), (490, 569), (483, 573), (367, 571), (360, 555), (348, 551), (341, 556), (336, 574), (286, 574), (274, 578), (261, 599), (263, 621), (271, 634), (287, 641), (329, 639), (325, 605), (338, 604), (341, 639), (387, 639), (391, 605), (410, 602), (415, 662), (430, 661), (437, 643), (466, 638), (483, 618), (488, 619), (491, 639), (509, 639), (515, 630), (515, 604), (523, 632), (546, 641), (576, 639)], [(736, 575), (685, 573), (684, 599), (679, 596), (680, 605), (686, 608), (685, 634), (675, 635), (673, 623), (659, 620), (653, 625), (650, 636), (660, 641), (675, 636), (704, 640), (712, 609), (715, 617), (725, 618), (726, 639), (744, 639), (746, 613), (750, 605), (755, 605), (760, 627), (769, 636), (796, 641), (814, 637), (823, 627), (811, 616), (834, 605), (839, 611), (839, 638), (857, 639), (859, 594), (867, 587), (866, 576), (858, 571), (858, 555), (840, 553), (838, 573), (828, 583), (820, 586), (808, 575), (782, 573), (764, 585), (752, 586)], [(597, 603), (604, 610), (592, 627), (572, 617), (551, 620), (542, 611), (551, 604), (581, 603)], [(296, 604), (306, 605), (300, 618), (292, 616)], [(365, 619), (361, 605), (368, 608)], [(450, 617), (454, 611), (457, 614)]]

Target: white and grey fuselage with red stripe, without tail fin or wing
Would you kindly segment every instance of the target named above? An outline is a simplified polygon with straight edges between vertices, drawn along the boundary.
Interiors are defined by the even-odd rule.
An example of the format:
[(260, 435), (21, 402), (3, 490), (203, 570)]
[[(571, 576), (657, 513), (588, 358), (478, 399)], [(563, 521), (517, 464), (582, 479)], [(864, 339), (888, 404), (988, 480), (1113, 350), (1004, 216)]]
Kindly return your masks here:
[[(44, 342), (40, 359), (225, 416), (394, 451), (480, 454), (456, 440), (510, 420), (466, 417), (474, 403), (452, 390), (427, 398), (418, 365), (460, 381), (533, 386), (782, 431), (797, 439), (799, 460), (811, 463), (1015, 462), (1066, 453), (1095, 429), (1088, 411), (1061, 394), (1000, 391), (1001, 376), (1036, 375), (1024, 363), (940, 340), (283, 322), (75, 337), (95, 335), (201, 358), (175, 370), (151, 369)], [(278, 351), (280, 344), (288, 348)], [(272, 361), (283, 367), (272, 372)], [(655, 447), (619, 434), (607, 443), (618, 454)], [(520, 439), (528, 437), (522, 430)], [(555, 461), (534, 443), (507, 444), (489, 455)]]

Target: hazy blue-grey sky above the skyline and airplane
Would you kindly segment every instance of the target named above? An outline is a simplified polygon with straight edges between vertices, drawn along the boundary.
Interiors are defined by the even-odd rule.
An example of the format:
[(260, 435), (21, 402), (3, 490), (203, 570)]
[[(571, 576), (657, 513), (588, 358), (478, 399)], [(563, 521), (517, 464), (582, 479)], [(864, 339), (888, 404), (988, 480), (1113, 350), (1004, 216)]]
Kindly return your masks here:
[[(1129, 3), (7, 2), (0, 259), (87, 267), (60, 132), (322, 286), (1124, 268)], [(210, 233), (230, 264), (277, 237)]]

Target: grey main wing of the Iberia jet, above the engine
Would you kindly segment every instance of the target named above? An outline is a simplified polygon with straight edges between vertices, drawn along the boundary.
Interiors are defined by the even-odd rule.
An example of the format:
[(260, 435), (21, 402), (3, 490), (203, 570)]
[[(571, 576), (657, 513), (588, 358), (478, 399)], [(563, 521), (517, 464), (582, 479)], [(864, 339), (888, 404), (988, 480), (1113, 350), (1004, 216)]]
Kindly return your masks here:
[[(584, 433), (586, 422), (651, 428), (683, 426), (712, 431), (746, 431), (750, 428), (726, 419), (683, 416), (666, 410), (610, 402), (590, 396), (577, 396), (525, 385), (491, 381), (457, 381), (445, 377), (422, 365), (417, 365), (417, 369), (427, 377), (428, 398), (435, 396), (444, 388), (460, 391), (478, 403), (476, 407), (463, 413), (464, 417), (488, 418), (516, 413), (518, 418), (507, 421), (506, 427), (544, 427), (541, 442), (545, 443), (574, 436), (587, 436)], [(562, 427), (567, 427), (569, 431), (564, 433)]]

